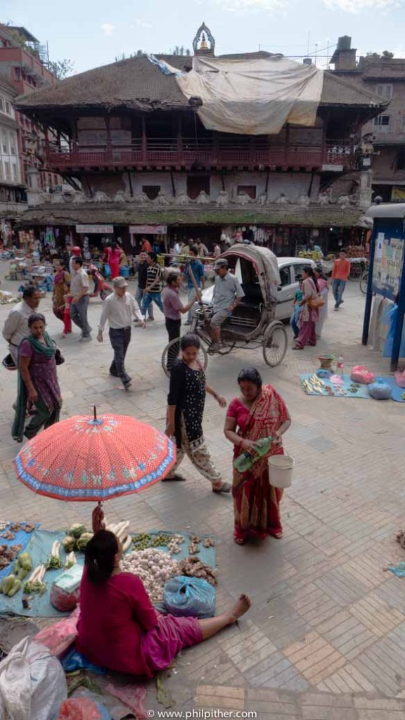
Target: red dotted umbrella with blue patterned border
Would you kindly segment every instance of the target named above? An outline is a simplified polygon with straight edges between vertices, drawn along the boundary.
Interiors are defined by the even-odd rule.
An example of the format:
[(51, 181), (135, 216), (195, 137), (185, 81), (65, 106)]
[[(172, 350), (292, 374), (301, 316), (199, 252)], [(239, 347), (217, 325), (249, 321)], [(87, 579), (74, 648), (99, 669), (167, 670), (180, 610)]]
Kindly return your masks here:
[(97, 418), (94, 408), (93, 417), (61, 420), (27, 441), (14, 466), (33, 492), (58, 500), (96, 500), (101, 508), (103, 500), (159, 482), (175, 462), (175, 445), (164, 433), (128, 415)]

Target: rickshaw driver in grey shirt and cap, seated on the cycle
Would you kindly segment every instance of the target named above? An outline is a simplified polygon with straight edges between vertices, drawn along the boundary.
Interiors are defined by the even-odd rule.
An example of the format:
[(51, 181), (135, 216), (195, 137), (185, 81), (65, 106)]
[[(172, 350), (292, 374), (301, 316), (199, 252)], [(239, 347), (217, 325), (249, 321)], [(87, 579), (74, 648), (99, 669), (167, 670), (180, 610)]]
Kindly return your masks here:
[(221, 325), (227, 318), (230, 318), (233, 310), (244, 297), (239, 280), (228, 271), (228, 261), (225, 258), (218, 258), (214, 264), (215, 286), (213, 292), (213, 317), (210, 320), (213, 344), (210, 346), (210, 354), (218, 352), (221, 348)]

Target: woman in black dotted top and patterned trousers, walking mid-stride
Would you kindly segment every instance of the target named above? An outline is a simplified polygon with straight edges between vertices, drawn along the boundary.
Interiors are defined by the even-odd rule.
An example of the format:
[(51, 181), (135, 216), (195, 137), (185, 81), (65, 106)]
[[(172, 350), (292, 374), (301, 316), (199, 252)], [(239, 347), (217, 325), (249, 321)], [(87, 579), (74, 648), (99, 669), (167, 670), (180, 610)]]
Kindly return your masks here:
[(213, 492), (231, 492), (231, 485), (222, 481), (221, 473), (211, 461), (203, 434), (205, 394), (213, 395), (221, 408), (226, 408), (226, 400), (205, 382), (205, 372), (197, 359), (199, 350), (200, 338), (187, 333), (180, 341), (180, 358), (172, 367), (166, 435), (176, 438), (177, 462), (164, 480), (185, 480), (176, 472), (185, 454), (194, 467), (210, 480)]

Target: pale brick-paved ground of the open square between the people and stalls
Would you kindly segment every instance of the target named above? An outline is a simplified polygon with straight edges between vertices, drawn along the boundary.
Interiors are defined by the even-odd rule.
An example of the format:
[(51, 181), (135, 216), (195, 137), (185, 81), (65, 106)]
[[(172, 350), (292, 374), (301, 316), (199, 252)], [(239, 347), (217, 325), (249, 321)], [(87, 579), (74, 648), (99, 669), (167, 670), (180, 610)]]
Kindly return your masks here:
[[(347, 367), (365, 361), (387, 372), (388, 362), (360, 345), (364, 300), (356, 285), (347, 288), (345, 300), (339, 313), (330, 312), (317, 349), (343, 354)], [(100, 309), (92, 300), (94, 328)], [(41, 310), (58, 336), (61, 324), (49, 297)], [(1, 324), (8, 312), (0, 307)], [(63, 417), (88, 413), (97, 402), (100, 410), (133, 414), (164, 428), (167, 382), (160, 354), (166, 333), (158, 310), (156, 318), (146, 330), (133, 330), (130, 393), (108, 376), (109, 343), (81, 345), (77, 334), (61, 341)], [(241, 366), (256, 364), (288, 403), (293, 425), (286, 446), (296, 469), (282, 503), (281, 540), (236, 546), (231, 498), (213, 495), (188, 461), (187, 483), (154, 486), (108, 503), (109, 518), (129, 519), (133, 531), (191, 527), (215, 533), (218, 610), (241, 591), (252, 597), (252, 611), (239, 628), (178, 658), (177, 673), (166, 680), (177, 708), (256, 709), (272, 720), (405, 718), (405, 580), (385, 572), (390, 562), (405, 559), (393, 539), (403, 522), (405, 406), (303, 395), (298, 374), (316, 369), (316, 354), (288, 351), (282, 366), (269, 369), (260, 351), (238, 350), (211, 359), (208, 369), (210, 384), (231, 400)], [(41, 498), (14, 479), (15, 384), (15, 374), (0, 372), (0, 516), (37, 520), (45, 528), (64, 528), (81, 518), (89, 522), (89, 505)], [(229, 479), (231, 445), (222, 427), (223, 410), (209, 397), (205, 433)], [(156, 706), (152, 692), (148, 703)]]

